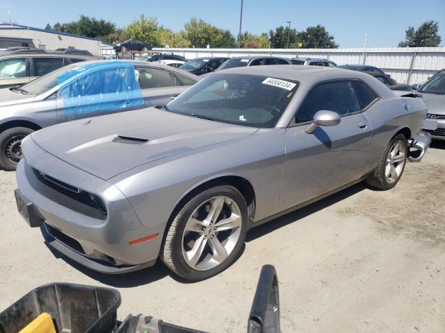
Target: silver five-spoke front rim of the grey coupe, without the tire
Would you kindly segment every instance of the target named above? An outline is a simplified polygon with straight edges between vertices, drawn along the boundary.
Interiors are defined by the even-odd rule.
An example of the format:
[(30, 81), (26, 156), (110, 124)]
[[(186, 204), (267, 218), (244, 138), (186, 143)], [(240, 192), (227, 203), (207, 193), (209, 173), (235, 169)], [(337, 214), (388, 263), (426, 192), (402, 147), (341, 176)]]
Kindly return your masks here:
[(216, 196), (199, 205), (182, 234), (182, 255), (197, 271), (222, 264), (234, 250), (243, 224), (241, 210), (227, 196)]

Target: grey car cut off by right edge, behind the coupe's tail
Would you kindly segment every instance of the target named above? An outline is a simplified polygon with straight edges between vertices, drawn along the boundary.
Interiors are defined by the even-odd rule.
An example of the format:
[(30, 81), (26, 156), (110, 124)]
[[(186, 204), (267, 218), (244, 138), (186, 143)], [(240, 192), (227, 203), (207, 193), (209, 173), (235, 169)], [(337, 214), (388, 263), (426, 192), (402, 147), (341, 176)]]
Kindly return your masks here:
[(413, 85), (422, 95), (428, 107), (427, 119), (437, 121), (436, 129), (424, 130), (430, 133), (432, 139), (445, 141), (445, 69), (438, 71), (423, 85)]

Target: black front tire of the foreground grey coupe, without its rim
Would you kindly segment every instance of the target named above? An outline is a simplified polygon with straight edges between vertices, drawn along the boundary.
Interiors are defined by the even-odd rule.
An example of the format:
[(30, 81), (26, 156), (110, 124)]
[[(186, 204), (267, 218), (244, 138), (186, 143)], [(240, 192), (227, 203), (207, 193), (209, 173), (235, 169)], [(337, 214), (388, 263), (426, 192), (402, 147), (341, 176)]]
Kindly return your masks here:
[[(240, 227), (241, 232), (232, 253), (230, 253), (222, 263), (207, 271), (200, 271), (189, 266), (184, 259), (182, 252), (182, 237), (184, 229), (186, 228), (186, 223), (191, 217), (191, 214), (195, 212), (197, 207), (200, 207), (202, 203), (206, 202), (206, 200), (210, 200), (216, 196), (226, 196), (234, 200), (236, 205), (238, 205), (242, 219)], [(224, 271), (230, 264), (232, 264), (232, 262), (234, 262), (234, 259), (236, 259), (238, 253), (241, 251), (245, 241), (245, 234), (248, 230), (248, 207), (243, 195), (236, 188), (226, 185), (212, 187), (197, 194), (188, 200), (182, 207), (179, 207), (179, 212), (172, 218), (172, 221), (167, 228), (168, 230), (166, 230), (161, 252), (159, 254), (159, 257), (161, 257), (165, 266), (168, 266), (173, 272), (186, 280), (205, 280)]]

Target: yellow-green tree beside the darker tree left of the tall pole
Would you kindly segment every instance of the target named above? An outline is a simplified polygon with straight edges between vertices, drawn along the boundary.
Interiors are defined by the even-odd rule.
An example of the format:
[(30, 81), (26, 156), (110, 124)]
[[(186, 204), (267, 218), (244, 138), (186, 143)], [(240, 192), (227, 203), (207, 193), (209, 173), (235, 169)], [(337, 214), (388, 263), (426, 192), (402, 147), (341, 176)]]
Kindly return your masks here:
[(213, 26), (202, 19), (192, 17), (189, 22), (184, 25), (186, 28), (187, 39), (191, 45), (195, 47), (207, 47), (217, 45), (223, 39), (223, 30)]

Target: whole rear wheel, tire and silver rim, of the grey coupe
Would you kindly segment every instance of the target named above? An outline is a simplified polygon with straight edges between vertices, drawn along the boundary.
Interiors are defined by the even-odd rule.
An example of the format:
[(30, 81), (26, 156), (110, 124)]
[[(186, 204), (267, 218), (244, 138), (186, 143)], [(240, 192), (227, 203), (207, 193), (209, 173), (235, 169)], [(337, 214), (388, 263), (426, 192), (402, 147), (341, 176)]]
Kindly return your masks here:
[(373, 174), (366, 180), (378, 189), (392, 189), (401, 179), (408, 155), (405, 135), (398, 134), (389, 142)]

